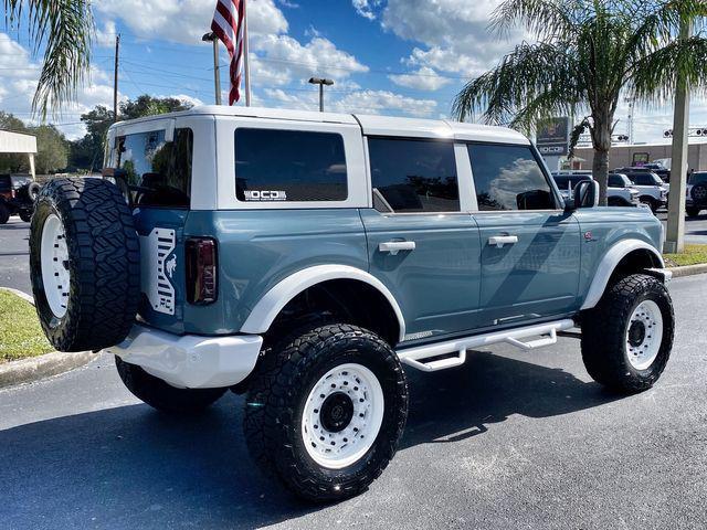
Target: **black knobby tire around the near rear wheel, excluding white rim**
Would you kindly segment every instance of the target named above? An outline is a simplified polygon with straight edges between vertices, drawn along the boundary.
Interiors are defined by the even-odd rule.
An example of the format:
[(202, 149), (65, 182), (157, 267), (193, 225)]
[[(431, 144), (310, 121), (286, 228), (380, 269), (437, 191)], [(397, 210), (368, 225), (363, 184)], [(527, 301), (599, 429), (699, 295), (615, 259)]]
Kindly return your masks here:
[[(316, 382), (348, 362), (371, 370), (381, 384), (384, 412), (376, 442), (342, 469), (318, 465), (304, 447), (302, 416)], [(293, 332), (256, 368), (246, 403), (244, 431), (252, 457), (294, 495), (314, 502), (354, 497), (366, 490), (395, 454), (408, 417), (408, 382), (395, 352), (377, 335), (344, 325)]]

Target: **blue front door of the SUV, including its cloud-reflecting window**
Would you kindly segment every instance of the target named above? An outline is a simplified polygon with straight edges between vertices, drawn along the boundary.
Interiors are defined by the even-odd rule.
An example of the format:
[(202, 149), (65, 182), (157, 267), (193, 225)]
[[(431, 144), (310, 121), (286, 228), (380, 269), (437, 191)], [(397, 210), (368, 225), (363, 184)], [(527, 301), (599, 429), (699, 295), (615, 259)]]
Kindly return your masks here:
[(481, 234), (482, 326), (572, 312), (580, 233), (531, 146), (468, 144)]

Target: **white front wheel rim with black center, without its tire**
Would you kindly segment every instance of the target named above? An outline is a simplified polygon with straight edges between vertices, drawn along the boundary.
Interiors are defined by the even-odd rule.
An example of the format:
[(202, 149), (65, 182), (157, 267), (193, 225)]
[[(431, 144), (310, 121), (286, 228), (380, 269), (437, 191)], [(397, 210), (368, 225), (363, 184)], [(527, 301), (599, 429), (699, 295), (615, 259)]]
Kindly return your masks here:
[(663, 315), (653, 300), (643, 300), (636, 306), (626, 327), (626, 354), (636, 370), (646, 370), (653, 364), (663, 340)]

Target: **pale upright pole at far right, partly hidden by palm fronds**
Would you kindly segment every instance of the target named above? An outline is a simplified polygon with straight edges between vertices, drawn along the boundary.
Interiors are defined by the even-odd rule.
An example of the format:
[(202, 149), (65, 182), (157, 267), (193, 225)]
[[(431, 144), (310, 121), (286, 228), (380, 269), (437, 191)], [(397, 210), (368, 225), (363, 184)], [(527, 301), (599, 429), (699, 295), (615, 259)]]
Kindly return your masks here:
[[(692, 24), (680, 22), (679, 40), (689, 39)], [(677, 70), (675, 91), (675, 118), (673, 123), (673, 161), (671, 165), (671, 197), (667, 211), (667, 234), (664, 252), (678, 253), (685, 250), (685, 189), (687, 188), (687, 152), (689, 128), (689, 87), (687, 80)]]

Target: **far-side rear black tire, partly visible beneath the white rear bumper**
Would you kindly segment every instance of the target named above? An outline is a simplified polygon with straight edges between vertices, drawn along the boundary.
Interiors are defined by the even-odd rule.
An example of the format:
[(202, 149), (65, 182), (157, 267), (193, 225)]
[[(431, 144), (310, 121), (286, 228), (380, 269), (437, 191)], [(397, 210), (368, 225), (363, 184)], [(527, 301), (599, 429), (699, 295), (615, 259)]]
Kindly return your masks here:
[(215, 403), (226, 389), (178, 389), (137, 364), (116, 356), (115, 365), (125, 386), (138, 400), (168, 414), (198, 414)]

